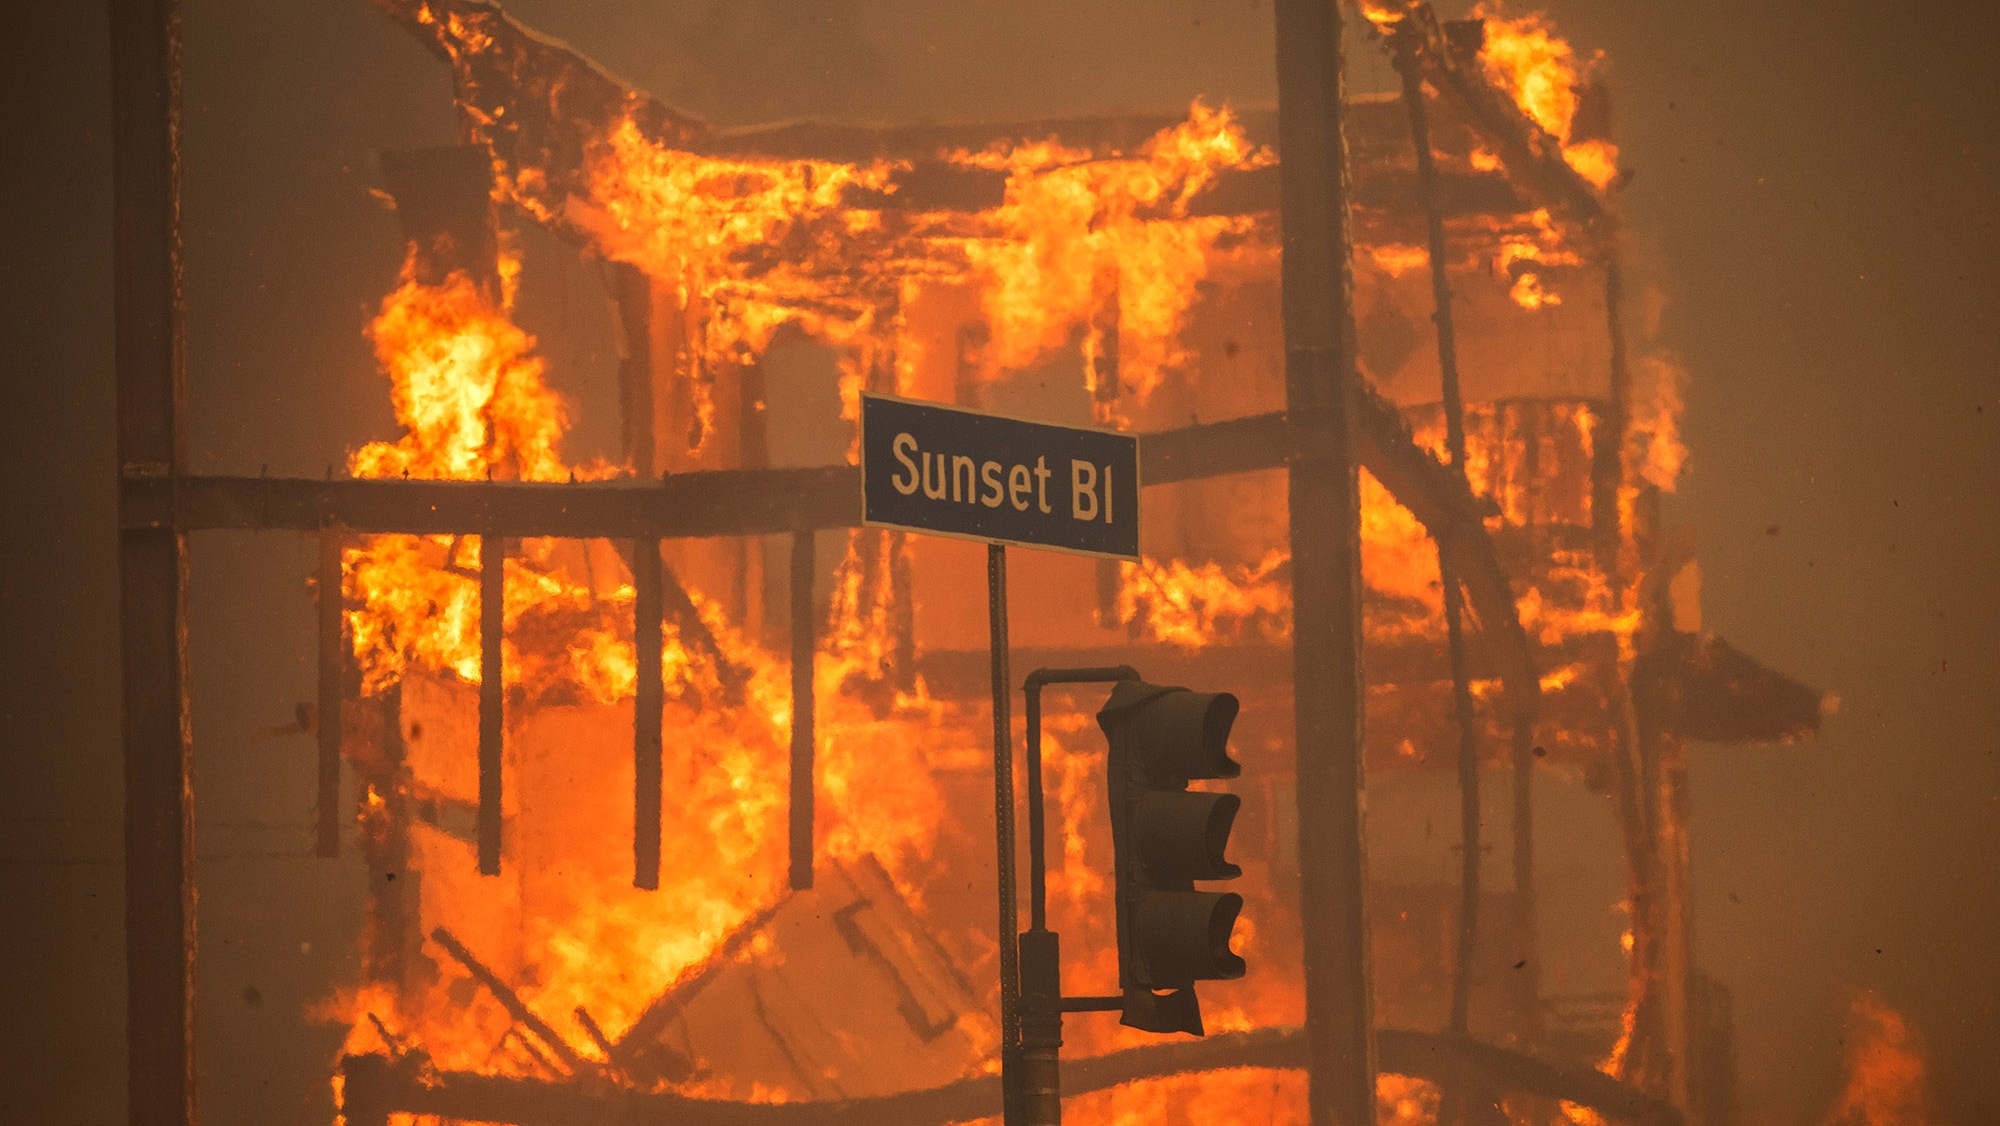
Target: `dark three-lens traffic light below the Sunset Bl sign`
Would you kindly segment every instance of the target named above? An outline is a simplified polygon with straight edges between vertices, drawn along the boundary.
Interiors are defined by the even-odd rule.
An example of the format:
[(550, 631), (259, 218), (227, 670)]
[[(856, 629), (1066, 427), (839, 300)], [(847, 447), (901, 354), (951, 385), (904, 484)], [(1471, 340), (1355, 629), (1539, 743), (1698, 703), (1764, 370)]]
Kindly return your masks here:
[(1244, 900), (1196, 892), (1196, 880), (1232, 880), (1224, 858), (1242, 800), (1188, 790), (1196, 778), (1236, 778), (1230, 724), (1236, 696), (1124, 680), (1098, 726), (1110, 742), (1108, 790), (1118, 894), (1122, 1024), (1202, 1034), (1194, 982), (1244, 976), (1230, 930)]

